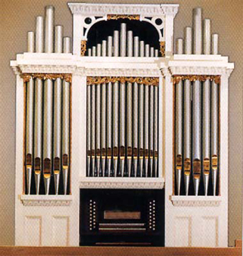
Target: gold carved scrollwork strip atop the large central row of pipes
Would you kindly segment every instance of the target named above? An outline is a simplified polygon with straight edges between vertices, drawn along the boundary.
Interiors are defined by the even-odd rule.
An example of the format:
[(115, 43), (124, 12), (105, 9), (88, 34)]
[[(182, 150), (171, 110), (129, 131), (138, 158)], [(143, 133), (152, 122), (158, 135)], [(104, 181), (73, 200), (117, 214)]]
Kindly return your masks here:
[(158, 86), (159, 78), (158, 77), (87, 77), (87, 85), (99, 83), (139, 83), (146, 86)]

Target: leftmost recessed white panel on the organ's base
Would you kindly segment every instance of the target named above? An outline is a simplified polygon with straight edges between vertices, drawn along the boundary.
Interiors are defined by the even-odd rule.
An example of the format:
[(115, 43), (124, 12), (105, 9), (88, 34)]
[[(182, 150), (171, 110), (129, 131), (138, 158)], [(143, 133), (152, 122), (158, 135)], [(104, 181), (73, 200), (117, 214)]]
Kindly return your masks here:
[(42, 218), (40, 216), (26, 216), (24, 236), (26, 246), (42, 245)]

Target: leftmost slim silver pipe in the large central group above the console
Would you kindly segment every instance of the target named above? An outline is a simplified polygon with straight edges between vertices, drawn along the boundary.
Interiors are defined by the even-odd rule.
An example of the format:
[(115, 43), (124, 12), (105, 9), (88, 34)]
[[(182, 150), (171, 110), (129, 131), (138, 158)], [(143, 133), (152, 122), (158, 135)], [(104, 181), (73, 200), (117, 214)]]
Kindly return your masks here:
[(91, 86), (87, 85), (87, 176), (90, 175), (90, 164), (92, 163), (91, 136)]

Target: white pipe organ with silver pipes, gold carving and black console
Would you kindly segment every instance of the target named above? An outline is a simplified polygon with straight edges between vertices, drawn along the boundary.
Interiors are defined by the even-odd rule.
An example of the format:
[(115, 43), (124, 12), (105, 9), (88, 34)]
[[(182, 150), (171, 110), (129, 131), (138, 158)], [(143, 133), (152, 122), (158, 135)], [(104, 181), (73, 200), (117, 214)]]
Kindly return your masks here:
[(210, 19), (174, 47), (176, 4), (68, 6), (72, 40), (47, 6), (11, 61), (15, 244), (227, 246), (234, 65)]

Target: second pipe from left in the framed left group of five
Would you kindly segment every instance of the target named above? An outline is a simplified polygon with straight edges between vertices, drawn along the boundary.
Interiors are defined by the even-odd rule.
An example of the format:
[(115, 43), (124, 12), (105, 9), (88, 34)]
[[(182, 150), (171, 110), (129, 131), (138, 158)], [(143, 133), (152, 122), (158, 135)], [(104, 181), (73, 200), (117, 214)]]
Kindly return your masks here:
[(42, 159), (42, 80), (35, 79), (35, 191), (40, 192), (40, 173)]

